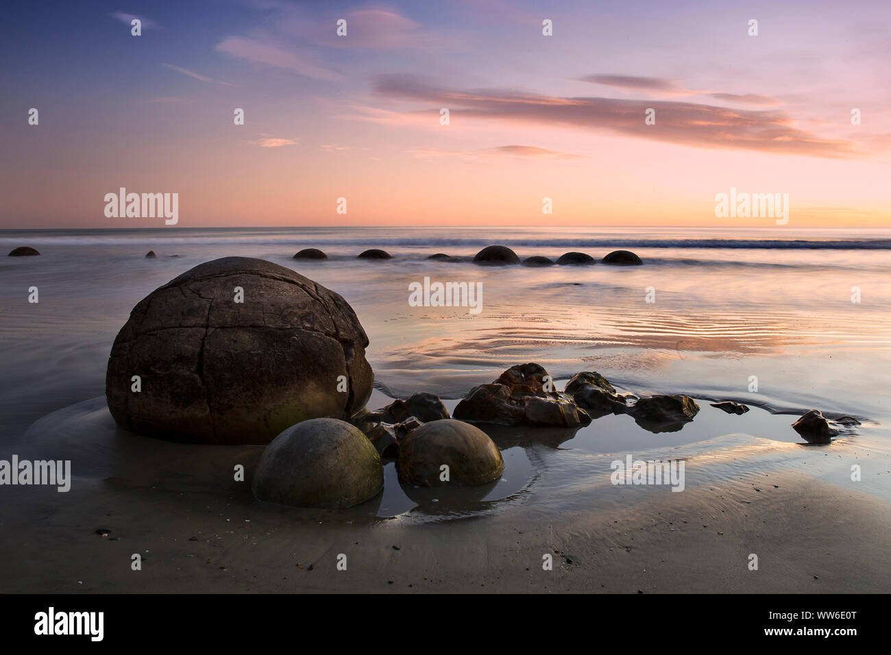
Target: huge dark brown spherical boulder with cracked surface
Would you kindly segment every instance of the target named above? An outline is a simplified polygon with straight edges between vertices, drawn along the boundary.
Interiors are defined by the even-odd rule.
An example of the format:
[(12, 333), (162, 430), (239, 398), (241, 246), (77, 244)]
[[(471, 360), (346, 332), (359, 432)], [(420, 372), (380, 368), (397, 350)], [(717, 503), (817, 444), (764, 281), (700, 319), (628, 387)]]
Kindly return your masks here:
[(364, 407), (367, 346), (334, 291), (263, 259), (215, 259), (134, 307), (111, 348), (105, 395), (115, 421), (139, 434), (268, 444), (295, 423)]

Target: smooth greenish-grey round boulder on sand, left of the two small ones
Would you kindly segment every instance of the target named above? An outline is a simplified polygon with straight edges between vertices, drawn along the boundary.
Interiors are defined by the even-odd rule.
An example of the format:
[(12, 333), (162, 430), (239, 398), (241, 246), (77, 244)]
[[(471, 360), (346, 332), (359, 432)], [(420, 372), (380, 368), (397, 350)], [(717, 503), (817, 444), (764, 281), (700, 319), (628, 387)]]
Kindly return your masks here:
[(380, 456), (362, 430), (337, 419), (292, 425), (260, 455), (258, 500), (297, 507), (352, 507), (384, 486)]

